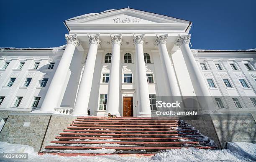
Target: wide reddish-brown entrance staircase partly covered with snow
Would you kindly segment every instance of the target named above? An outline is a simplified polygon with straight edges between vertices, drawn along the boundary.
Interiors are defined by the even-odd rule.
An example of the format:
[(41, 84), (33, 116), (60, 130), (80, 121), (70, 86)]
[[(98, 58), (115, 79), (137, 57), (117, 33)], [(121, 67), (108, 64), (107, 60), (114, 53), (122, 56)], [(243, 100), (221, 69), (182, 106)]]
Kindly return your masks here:
[(39, 154), (154, 155), (195, 147), (217, 149), (184, 120), (171, 117), (78, 117)]

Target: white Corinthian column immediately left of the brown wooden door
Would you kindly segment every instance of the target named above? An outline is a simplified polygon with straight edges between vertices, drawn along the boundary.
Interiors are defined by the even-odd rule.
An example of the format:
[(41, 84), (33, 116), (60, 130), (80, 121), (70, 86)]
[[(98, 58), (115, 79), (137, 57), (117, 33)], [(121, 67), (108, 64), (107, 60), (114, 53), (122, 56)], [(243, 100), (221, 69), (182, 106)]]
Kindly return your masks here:
[(112, 57), (110, 65), (110, 76), (108, 82), (108, 100), (106, 114), (120, 116), (119, 94), (120, 94), (120, 45), (122, 45), (122, 34), (111, 35)]

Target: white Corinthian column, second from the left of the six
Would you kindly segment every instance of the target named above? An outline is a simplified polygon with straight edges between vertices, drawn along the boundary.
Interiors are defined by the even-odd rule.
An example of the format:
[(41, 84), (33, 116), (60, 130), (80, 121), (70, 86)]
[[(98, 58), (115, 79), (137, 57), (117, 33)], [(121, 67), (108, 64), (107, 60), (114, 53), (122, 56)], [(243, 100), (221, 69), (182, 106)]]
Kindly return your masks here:
[(84, 65), (84, 72), (80, 82), (77, 93), (77, 100), (74, 105), (75, 115), (87, 115), (87, 109), (92, 89), (92, 78), (94, 73), (94, 66), (96, 61), (97, 49), (100, 44), (100, 35), (88, 35), (89, 37), (89, 51)]

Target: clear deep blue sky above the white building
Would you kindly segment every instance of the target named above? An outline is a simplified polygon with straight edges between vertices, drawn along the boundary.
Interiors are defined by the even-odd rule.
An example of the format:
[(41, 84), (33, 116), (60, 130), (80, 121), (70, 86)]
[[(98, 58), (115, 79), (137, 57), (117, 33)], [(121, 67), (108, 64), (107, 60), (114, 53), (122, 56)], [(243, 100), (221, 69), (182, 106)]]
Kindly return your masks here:
[(256, 0), (1, 0), (0, 47), (64, 45), (64, 20), (128, 5), (192, 21), (193, 49), (256, 48)]

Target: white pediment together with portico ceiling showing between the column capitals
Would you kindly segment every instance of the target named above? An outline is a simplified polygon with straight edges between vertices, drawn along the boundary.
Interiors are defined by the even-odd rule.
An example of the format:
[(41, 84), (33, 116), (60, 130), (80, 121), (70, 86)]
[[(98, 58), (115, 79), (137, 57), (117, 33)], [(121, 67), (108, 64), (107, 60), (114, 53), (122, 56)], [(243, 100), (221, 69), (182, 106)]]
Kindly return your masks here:
[(110, 33), (123, 35), (121, 49), (134, 49), (133, 34), (145, 34), (144, 47), (157, 49), (156, 34), (168, 34), (167, 48), (174, 47), (179, 34), (187, 35), (190, 21), (151, 12), (123, 8), (73, 17), (64, 21), (70, 34), (77, 34), (82, 48), (89, 47), (87, 34), (100, 34), (101, 49), (111, 49)]

